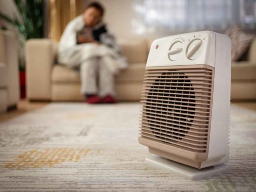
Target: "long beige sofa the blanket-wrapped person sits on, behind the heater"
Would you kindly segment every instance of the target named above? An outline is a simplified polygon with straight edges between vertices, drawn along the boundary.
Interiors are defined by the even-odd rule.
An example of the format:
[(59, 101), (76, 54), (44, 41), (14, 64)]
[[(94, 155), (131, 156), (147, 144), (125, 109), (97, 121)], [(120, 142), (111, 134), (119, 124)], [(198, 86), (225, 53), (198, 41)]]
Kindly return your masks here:
[[(139, 101), (152, 40), (120, 41), (129, 66), (116, 77), (117, 99)], [(29, 100), (82, 101), (79, 74), (59, 65), (57, 47), (50, 39), (31, 39), (26, 44), (27, 97)], [(231, 99), (256, 99), (256, 39), (244, 61), (233, 62)]]

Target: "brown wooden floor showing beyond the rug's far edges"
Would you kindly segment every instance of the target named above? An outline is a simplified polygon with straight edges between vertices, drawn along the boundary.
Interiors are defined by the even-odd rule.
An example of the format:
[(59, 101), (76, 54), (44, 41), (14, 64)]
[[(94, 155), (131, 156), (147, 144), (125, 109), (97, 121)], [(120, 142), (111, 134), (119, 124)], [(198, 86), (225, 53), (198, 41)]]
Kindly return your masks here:
[[(17, 109), (11, 109), (7, 113), (0, 114), (0, 123), (12, 119), (16, 116), (19, 116), (21, 114), (27, 113), (32, 110), (36, 110), (39, 108), (42, 108), (43, 106), (46, 106), (50, 102), (44, 101), (44, 102), (29, 102), (26, 99), (22, 99), (18, 102)], [(232, 104), (236, 104), (237, 106), (256, 111), (256, 101), (232, 101)], [(82, 104), (82, 102), (81, 102)]]

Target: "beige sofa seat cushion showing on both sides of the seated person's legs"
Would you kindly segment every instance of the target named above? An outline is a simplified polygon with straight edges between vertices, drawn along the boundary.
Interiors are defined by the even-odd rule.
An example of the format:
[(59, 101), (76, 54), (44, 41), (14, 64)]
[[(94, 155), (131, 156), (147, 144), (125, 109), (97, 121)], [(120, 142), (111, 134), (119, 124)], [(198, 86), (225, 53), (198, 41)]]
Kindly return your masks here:
[[(129, 65), (128, 68), (124, 69), (116, 76), (117, 82), (138, 82), (143, 81), (145, 63), (134, 63)], [(53, 66), (52, 82), (67, 82), (74, 83), (80, 82), (80, 75), (73, 69), (63, 65), (56, 64)]]

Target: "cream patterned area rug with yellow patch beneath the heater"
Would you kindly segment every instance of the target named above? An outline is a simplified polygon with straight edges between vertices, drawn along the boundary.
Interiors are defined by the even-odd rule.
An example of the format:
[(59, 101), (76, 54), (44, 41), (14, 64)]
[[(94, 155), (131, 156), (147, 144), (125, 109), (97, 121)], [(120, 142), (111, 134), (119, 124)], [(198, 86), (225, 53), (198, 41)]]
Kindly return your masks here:
[(150, 167), (139, 103), (52, 103), (0, 124), (1, 191), (255, 191), (256, 113), (231, 106), (230, 171), (189, 181)]

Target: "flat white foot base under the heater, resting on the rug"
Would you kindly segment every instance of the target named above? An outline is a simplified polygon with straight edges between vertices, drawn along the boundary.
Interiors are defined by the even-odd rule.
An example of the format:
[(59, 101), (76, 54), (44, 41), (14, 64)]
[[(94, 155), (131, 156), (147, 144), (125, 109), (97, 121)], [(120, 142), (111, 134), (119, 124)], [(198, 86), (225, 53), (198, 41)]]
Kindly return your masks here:
[(149, 165), (164, 169), (189, 180), (206, 179), (229, 171), (229, 165), (226, 164), (197, 169), (153, 154), (149, 154), (145, 161)]

